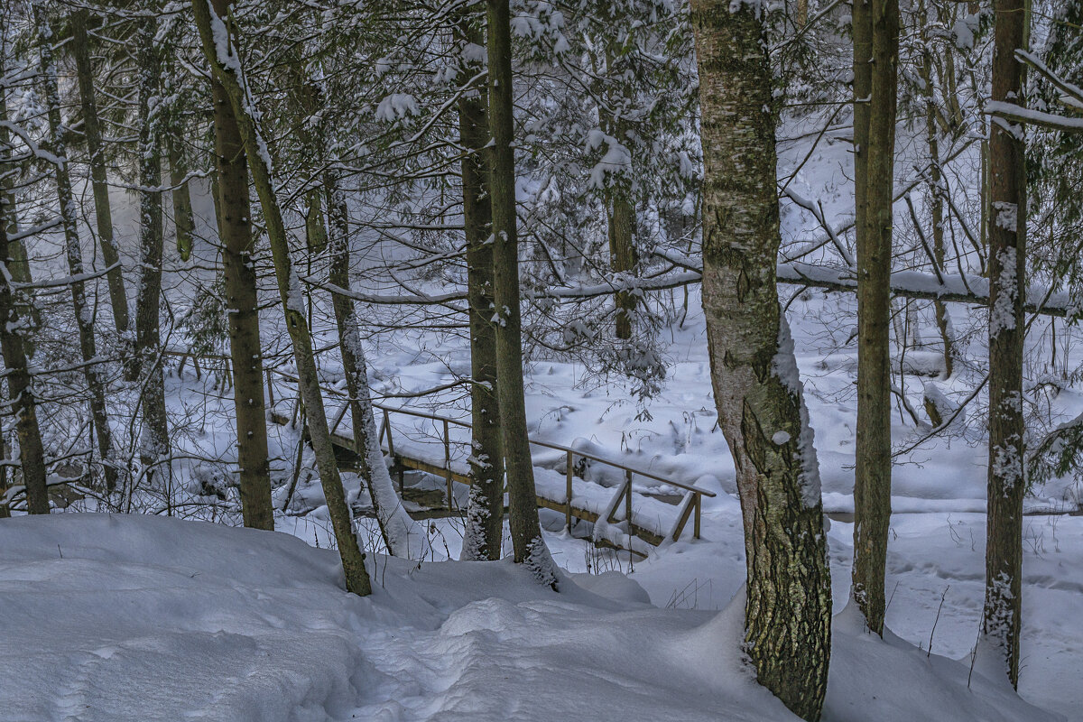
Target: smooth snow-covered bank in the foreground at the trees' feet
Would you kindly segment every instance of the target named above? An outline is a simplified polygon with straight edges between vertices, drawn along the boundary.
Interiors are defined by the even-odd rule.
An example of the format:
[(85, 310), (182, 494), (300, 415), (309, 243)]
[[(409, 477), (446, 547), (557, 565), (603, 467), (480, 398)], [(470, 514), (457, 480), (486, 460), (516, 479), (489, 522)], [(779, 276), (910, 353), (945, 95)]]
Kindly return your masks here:
[[(725, 517), (713, 515), (716, 534)], [(719, 604), (740, 583), (735, 561), (709, 563), (739, 548), (730, 537), (670, 550), (700, 560)], [(630, 579), (572, 575), (554, 593), (509, 563), (381, 556), (370, 560), (374, 594), (360, 599), (342, 591), (332, 551), (284, 534), (142, 515), (17, 517), (0, 524), (0, 718), (796, 719), (741, 662), (740, 595), (720, 613), (648, 603), (637, 579), (653, 596), (679, 576), (664, 559)], [(892, 620), (921, 594), (903, 596)], [(952, 644), (953, 616), (938, 627), (939, 651)], [(824, 719), (1057, 719), (980, 671), (968, 684), (969, 671), (893, 634), (870, 636), (844, 612)]]

